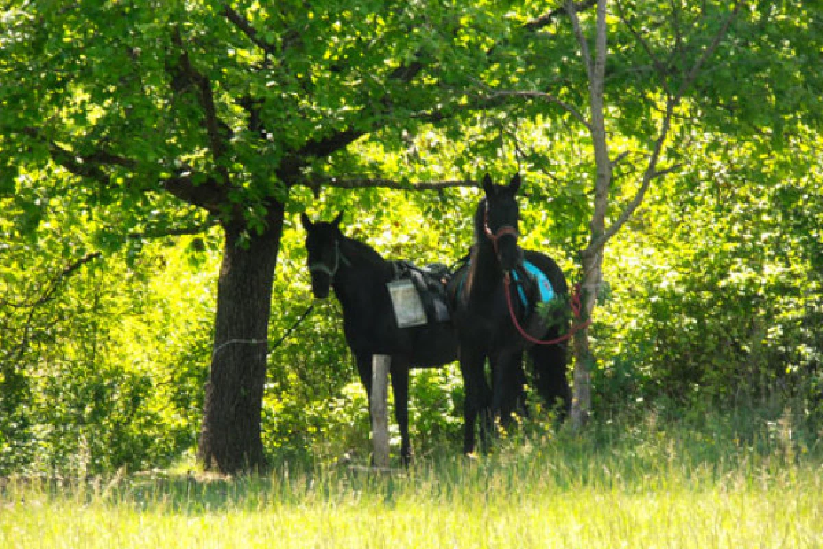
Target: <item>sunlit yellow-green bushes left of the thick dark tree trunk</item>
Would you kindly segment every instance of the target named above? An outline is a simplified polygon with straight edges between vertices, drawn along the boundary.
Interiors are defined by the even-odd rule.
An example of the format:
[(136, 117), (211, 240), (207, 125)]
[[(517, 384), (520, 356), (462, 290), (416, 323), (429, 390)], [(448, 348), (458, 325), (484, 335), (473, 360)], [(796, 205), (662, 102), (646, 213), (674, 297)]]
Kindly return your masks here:
[(207, 324), (189, 316), (169, 333), (176, 306), (202, 300), (196, 275), (164, 281), (179, 258), (170, 266), (158, 247), (84, 255), (105, 216), (71, 195), (45, 202), (30, 232), (25, 210), (2, 202), (0, 471), (169, 463), (193, 444), (202, 401), (205, 348), (191, 335)]

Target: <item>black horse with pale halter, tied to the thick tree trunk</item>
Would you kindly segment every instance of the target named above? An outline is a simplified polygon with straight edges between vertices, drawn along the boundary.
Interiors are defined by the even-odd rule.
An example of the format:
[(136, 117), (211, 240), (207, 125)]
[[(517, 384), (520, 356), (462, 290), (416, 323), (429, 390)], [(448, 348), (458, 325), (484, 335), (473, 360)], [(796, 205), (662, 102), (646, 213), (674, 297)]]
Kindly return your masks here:
[[(326, 298), (329, 286), (343, 309), (343, 331), (355, 356), (360, 381), (371, 402), (372, 356), (391, 356), (389, 375), (394, 413), (400, 427), (400, 458), (408, 463), (412, 447), (408, 433), (409, 368), (430, 368), (457, 360), (457, 337), (449, 322), (398, 328), (386, 284), (398, 277), (399, 263), (387, 261), (367, 244), (340, 230), (342, 214), (313, 223), (300, 216), (306, 230), (306, 250), (314, 297)], [(403, 263), (407, 265), (407, 263)]]

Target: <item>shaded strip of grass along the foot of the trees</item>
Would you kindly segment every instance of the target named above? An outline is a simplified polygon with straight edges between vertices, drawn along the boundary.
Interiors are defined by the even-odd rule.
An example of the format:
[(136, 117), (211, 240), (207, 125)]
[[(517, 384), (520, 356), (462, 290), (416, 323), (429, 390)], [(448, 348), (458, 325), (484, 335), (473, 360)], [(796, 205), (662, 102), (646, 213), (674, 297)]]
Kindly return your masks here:
[(40, 498), (183, 515), (283, 505), (392, 505), (398, 498), (449, 505), (546, 491), (700, 491), (730, 477), (783, 482), (787, 474), (819, 470), (821, 463), (823, 444), (798, 436), (789, 412), (746, 410), (695, 421), (647, 411), (628, 420), (593, 422), (583, 433), (527, 421), (500, 435), (486, 454), (468, 458), (444, 449), (388, 472), (346, 462), (283, 462), (265, 476), (160, 470), (86, 479), (18, 476), (0, 478), (0, 500), (9, 505)]

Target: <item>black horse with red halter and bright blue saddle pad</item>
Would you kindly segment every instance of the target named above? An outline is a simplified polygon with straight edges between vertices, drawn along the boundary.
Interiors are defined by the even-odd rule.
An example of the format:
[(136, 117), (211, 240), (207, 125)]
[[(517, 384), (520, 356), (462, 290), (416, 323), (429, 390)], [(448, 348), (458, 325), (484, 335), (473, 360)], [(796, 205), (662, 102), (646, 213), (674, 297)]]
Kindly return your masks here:
[[(523, 402), (523, 351), (531, 356), (532, 379), (546, 404), (559, 403), (560, 415), (565, 416), (571, 403), (565, 342), (532, 345), (513, 322), (514, 317), (528, 337), (552, 340), (568, 331), (570, 319), (569, 289), (560, 267), (546, 254), (518, 246), (518, 188), (519, 174), (508, 186), (493, 184), (488, 175), (483, 179), (486, 198), (475, 212), (469, 263), (449, 285), (466, 393), (466, 453), (474, 449), (478, 416), (484, 433), (492, 421), (506, 421)], [(537, 314), (539, 286), (545, 286), (546, 280), (551, 283), (546, 292), (556, 300), (550, 319)], [(486, 357), (491, 363), (491, 388), (484, 371)]]

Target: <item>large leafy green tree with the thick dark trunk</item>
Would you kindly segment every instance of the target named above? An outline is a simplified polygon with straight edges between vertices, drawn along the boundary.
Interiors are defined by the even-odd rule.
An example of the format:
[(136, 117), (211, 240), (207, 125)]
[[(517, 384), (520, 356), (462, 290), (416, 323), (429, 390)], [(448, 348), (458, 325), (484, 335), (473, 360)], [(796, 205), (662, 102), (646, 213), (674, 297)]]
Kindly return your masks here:
[(485, 2), (89, 0), (21, 2), (3, 21), (3, 193), (37, 173), (56, 196), (68, 176), (84, 189), (74, 207), (119, 214), (98, 230), (100, 249), (139, 247), (129, 231), (221, 226), (198, 454), (223, 471), (262, 467), (272, 281), (284, 216), (300, 203), (291, 193), (409, 186), (331, 178), (358, 165), (346, 147), (360, 137), (467, 109), (438, 79), (485, 59), (481, 29), (499, 30), (500, 12)]

